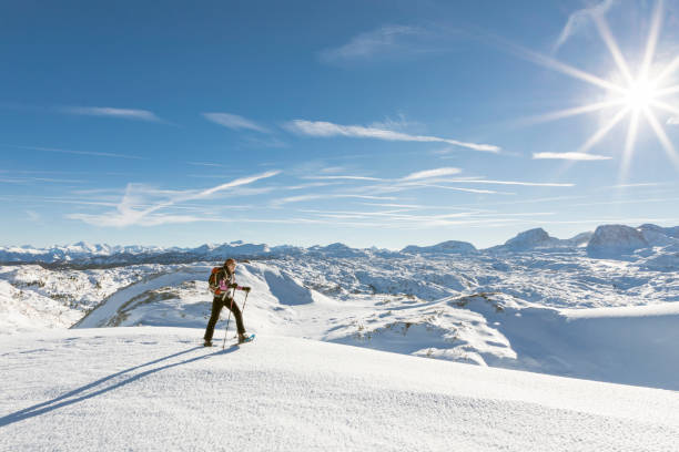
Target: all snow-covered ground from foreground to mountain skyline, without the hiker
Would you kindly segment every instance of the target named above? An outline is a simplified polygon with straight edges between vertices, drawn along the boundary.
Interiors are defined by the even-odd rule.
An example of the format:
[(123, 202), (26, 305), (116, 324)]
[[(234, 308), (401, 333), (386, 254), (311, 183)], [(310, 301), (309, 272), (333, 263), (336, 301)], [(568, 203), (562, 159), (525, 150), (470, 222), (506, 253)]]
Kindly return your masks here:
[[(203, 349), (207, 275), (237, 253), (257, 340)], [(77, 244), (1, 259), (1, 450), (679, 444), (679, 227), (531, 229), (482, 250)]]

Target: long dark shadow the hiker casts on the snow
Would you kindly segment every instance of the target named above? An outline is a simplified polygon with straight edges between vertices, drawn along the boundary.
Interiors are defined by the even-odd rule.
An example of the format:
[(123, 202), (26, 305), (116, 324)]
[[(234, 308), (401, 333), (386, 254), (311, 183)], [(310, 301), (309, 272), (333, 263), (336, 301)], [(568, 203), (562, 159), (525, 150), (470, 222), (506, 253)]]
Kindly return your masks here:
[[(77, 388), (77, 389), (74, 389), (72, 391), (69, 391), (69, 392), (67, 392), (64, 394), (61, 394), (61, 396), (59, 396), (59, 397), (57, 397), (57, 398), (54, 398), (52, 400), (48, 400), (47, 402), (38, 403), (38, 404), (32, 405), (32, 407), (24, 408), (23, 410), (19, 410), (19, 411), (16, 411), (13, 413), (7, 414), (7, 415), (0, 418), (0, 427), (9, 425), (11, 423), (22, 421), (24, 419), (34, 418), (37, 415), (44, 414), (47, 412), (57, 410), (59, 408), (68, 407), (68, 405), (73, 404), (73, 403), (82, 402), (83, 400), (91, 399), (91, 398), (94, 398), (97, 396), (101, 396), (104, 392), (112, 391), (112, 390), (118, 389), (120, 387), (123, 387), (123, 386), (125, 386), (128, 383), (136, 381), (136, 380), (139, 380), (141, 378), (148, 377), (148, 376), (150, 376), (152, 373), (160, 372), (161, 370), (166, 370), (166, 369), (171, 369), (173, 367), (183, 366), (183, 364), (188, 364), (190, 362), (200, 361), (202, 359), (207, 359), (207, 358), (211, 358), (211, 357), (214, 357), (214, 356), (217, 356), (217, 355), (231, 353), (231, 352), (237, 350), (239, 346), (237, 345), (236, 346), (232, 346), (232, 347), (230, 347), (230, 348), (227, 348), (225, 350), (219, 350), (219, 351), (215, 351), (213, 353), (201, 355), (199, 357), (185, 359), (183, 361), (174, 362), (172, 364), (166, 364), (166, 366), (161, 366), (161, 367), (158, 367), (158, 368), (144, 370), (143, 372), (135, 373), (135, 374), (133, 374), (133, 376), (131, 376), (129, 378), (125, 378), (124, 380), (118, 381), (118, 382), (115, 382), (113, 384), (110, 384), (110, 386), (107, 386), (107, 387), (102, 387), (101, 389), (97, 389), (98, 387), (101, 387), (107, 381), (113, 380), (113, 379), (115, 379), (115, 378), (118, 378), (120, 376), (123, 376), (125, 373), (130, 373), (130, 372), (132, 372), (132, 371), (134, 371), (136, 369), (141, 369), (141, 368), (148, 367), (148, 366), (153, 366), (153, 364), (156, 364), (156, 363), (159, 363), (161, 361), (165, 361), (165, 360), (169, 360), (169, 359), (172, 359), (172, 358), (176, 358), (179, 356), (182, 356), (182, 355), (185, 355), (185, 353), (190, 353), (192, 351), (200, 350), (203, 347), (193, 347), (193, 348), (191, 348), (189, 350), (180, 351), (178, 353), (169, 355), (166, 357), (159, 358), (159, 359), (155, 359), (153, 361), (145, 362), (143, 364), (139, 364), (139, 366), (134, 366), (134, 367), (125, 369), (125, 370), (121, 370), (120, 372), (112, 373), (112, 374), (107, 376), (104, 378), (101, 378), (101, 379), (99, 379), (97, 381), (93, 381), (91, 383), (84, 384), (84, 386), (82, 386), (80, 388)], [(90, 389), (92, 389), (94, 391), (93, 392), (87, 392)]]

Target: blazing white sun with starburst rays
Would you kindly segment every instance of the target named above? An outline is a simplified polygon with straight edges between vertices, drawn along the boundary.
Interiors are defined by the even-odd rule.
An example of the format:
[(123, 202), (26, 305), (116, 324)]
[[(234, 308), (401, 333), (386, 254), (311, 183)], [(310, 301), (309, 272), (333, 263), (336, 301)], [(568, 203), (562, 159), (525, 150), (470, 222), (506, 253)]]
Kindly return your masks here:
[[(622, 161), (620, 167), (620, 178), (624, 179), (630, 165), (635, 152), (635, 142), (639, 130), (639, 123), (645, 121), (658, 137), (667, 156), (679, 171), (679, 154), (673, 144), (667, 136), (658, 114), (679, 117), (679, 107), (672, 105), (672, 96), (679, 94), (679, 85), (671, 85), (672, 75), (679, 69), (679, 56), (665, 64), (658, 72), (651, 73), (651, 64), (656, 53), (656, 44), (662, 27), (663, 4), (662, 0), (656, 2), (643, 59), (635, 71), (628, 65), (617, 41), (610, 31), (606, 18), (601, 13), (591, 13), (591, 19), (597, 25), (599, 35), (606, 43), (612, 60), (616, 63), (616, 81), (604, 76), (598, 76), (585, 72), (580, 69), (570, 66), (553, 58), (541, 55), (526, 49), (514, 48), (519, 55), (548, 69), (561, 72), (566, 75), (581, 80), (600, 89), (608, 95), (605, 101), (595, 102), (572, 109), (550, 112), (530, 119), (530, 122), (547, 122), (561, 120), (580, 114), (594, 113), (599, 111), (615, 112), (604, 122), (576, 152), (588, 153), (599, 143), (618, 123), (629, 117), (629, 125), (625, 140)], [(659, 64), (656, 64), (658, 66)]]

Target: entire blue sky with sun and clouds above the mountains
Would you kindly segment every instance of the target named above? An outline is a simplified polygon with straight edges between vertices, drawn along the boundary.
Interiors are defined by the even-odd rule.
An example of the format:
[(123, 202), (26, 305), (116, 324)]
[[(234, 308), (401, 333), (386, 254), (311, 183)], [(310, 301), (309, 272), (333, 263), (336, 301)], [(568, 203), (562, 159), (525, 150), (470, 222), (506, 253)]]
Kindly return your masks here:
[(6, 2), (0, 245), (679, 224), (679, 1)]

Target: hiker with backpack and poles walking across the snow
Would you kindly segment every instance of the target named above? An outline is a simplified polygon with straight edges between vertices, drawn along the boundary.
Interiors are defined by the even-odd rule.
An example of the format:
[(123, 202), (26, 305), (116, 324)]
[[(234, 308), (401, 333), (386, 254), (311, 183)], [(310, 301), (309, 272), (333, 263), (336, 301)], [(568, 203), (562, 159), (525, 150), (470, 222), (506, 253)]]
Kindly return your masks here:
[(211, 290), (214, 288), (214, 298), (212, 299), (212, 315), (207, 321), (207, 328), (205, 329), (205, 336), (203, 338), (205, 339), (205, 347), (212, 347), (212, 335), (214, 335), (214, 327), (220, 319), (220, 312), (224, 306), (229, 308), (231, 312), (233, 312), (233, 317), (236, 319), (239, 343), (249, 340), (247, 335), (245, 335), (245, 326), (243, 325), (243, 315), (241, 314), (241, 309), (239, 309), (239, 305), (233, 299), (235, 291), (231, 291), (231, 289), (250, 292), (251, 288), (246, 286), (242, 287), (236, 284), (235, 267), (236, 264), (234, 259), (226, 259), (224, 266), (222, 268), (216, 267), (213, 269), (213, 275), (210, 277)]

